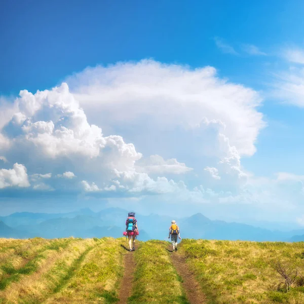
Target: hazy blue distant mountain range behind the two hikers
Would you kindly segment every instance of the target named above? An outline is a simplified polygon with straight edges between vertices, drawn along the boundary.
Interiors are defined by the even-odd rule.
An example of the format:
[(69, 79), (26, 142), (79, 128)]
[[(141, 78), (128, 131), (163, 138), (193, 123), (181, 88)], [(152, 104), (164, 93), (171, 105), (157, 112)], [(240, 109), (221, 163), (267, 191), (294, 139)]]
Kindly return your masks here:
[[(93, 212), (89, 208), (69, 213), (17, 212), (0, 217), (0, 237), (47, 239), (81, 237), (122, 237), (128, 211), (108, 208)], [(139, 240), (168, 239), (171, 217), (157, 214), (136, 214)], [(304, 241), (304, 230), (271, 231), (243, 223), (210, 220), (201, 213), (177, 219), (182, 238), (247, 240), (247, 241)]]

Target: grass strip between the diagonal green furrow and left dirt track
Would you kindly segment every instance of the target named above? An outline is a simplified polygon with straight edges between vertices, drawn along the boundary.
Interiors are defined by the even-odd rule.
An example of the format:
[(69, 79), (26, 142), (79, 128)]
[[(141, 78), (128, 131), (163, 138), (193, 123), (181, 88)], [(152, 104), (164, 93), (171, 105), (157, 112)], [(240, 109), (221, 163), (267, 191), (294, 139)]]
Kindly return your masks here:
[(46, 300), (51, 303), (114, 303), (123, 276), (122, 241), (113, 238), (95, 239), (97, 246), (78, 265), (74, 265)]

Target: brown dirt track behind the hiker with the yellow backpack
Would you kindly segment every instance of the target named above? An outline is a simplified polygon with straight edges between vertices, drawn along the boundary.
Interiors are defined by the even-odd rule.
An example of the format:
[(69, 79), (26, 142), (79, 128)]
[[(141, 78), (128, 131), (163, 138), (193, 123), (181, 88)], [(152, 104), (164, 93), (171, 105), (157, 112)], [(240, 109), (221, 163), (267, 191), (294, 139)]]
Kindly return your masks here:
[(188, 301), (191, 304), (206, 304), (206, 297), (201, 291), (194, 274), (189, 271), (186, 259), (178, 252), (172, 252), (171, 258), (177, 273), (183, 280), (182, 287), (186, 292)]

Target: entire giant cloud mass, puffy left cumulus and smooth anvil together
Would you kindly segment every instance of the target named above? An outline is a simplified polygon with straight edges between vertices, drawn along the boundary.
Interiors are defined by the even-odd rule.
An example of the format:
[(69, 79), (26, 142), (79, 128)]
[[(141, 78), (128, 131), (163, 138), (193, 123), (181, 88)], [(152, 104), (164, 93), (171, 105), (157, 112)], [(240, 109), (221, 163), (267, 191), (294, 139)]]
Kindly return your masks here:
[[(254, 153), (264, 126), (261, 100), (214, 68), (143, 60), (89, 68), (67, 82), (72, 92), (66, 83), (21, 91), (2, 126), (1, 157), (23, 164), (33, 189), (203, 201), (213, 191), (202, 189), (246, 182), (240, 159)], [(185, 174), (202, 189), (179, 181)]]

